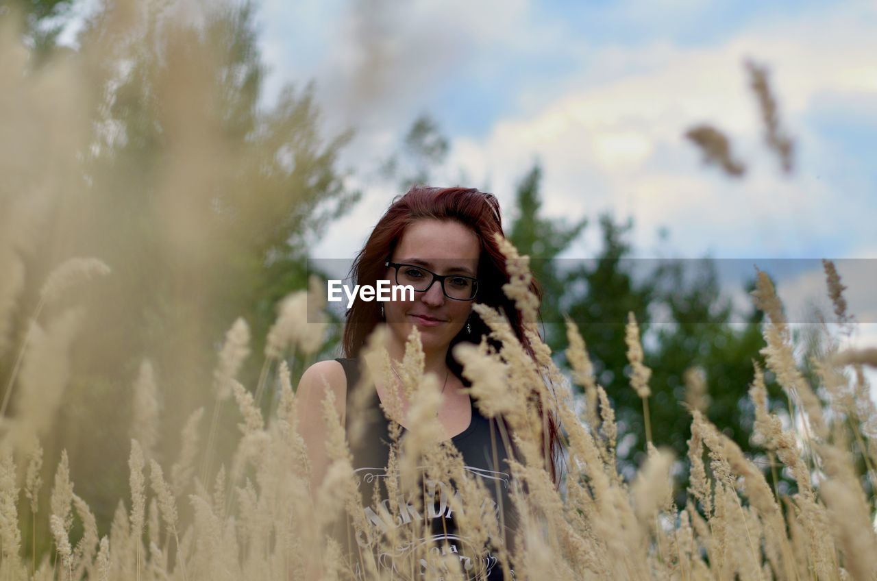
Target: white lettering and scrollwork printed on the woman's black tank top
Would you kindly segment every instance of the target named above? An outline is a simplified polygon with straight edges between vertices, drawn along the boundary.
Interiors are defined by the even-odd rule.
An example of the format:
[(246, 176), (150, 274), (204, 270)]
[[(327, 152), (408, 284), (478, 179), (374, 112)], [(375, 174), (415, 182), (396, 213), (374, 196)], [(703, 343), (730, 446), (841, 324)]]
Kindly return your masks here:
[[(506, 472), (484, 470), (473, 466), (464, 466), (464, 468), (474, 476), (479, 476), (482, 479), (499, 481), (503, 484), (506, 490), (509, 488), (510, 476)], [(423, 467), (421, 467), (421, 471), (422, 470)], [(380, 478), (386, 478), (387, 470), (386, 468), (360, 468), (354, 470), (354, 475), (356, 477), (357, 488), (359, 488), (360, 484), (363, 482), (368, 484), (379, 484), (375, 483), (375, 481), (379, 481)], [(488, 486), (494, 485), (490, 483), (485, 484), (488, 484)], [(375, 551), (374, 555), (379, 571), (392, 570), (395, 576), (401, 576), (402, 578), (406, 578), (405, 575), (410, 576), (412, 572), (410, 570), (410, 564), (407, 566), (403, 565), (403, 567), (408, 570), (400, 570), (397, 563), (409, 563), (410, 554), (413, 551), (424, 546), (427, 542), (433, 542), (434, 544), (439, 545), (431, 547), (431, 551), (435, 553), (436, 556), (459, 556), (461, 569), (467, 574), (468, 579), (487, 577), (497, 564), (497, 558), (495, 555), (488, 553), (481, 560), (481, 563), (477, 563), (475, 556), (478, 551), (474, 547), (474, 544), (469, 542), (466, 537), (462, 537), (458, 534), (431, 534), (431, 524), (427, 525), (424, 523), (424, 519), (433, 520), (439, 518), (453, 518), (453, 508), (451, 507), (450, 499), (452, 498), (452, 494), (454, 495), (454, 498), (459, 498), (459, 492), (455, 491), (451, 484), (439, 480), (433, 480), (431, 478), (424, 479), (424, 487), (424, 514), (418, 512), (417, 508), (410, 502), (410, 500), (403, 500), (401, 498), (397, 499), (398, 502), (396, 503), (396, 506), (399, 507), (399, 513), (392, 521), (381, 518), (381, 514), (375, 511), (373, 506), (363, 506), (362, 510), (365, 513), (366, 521), (371, 527), (371, 530), (367, 531), (368, 538), (365, 538), (360, 531), (357, 531), (356, 542), (364, 549), (374, 550), (374, 547), (378, 545), (378, 539), (384, 534), (389, 533), (390, 529), (403, 526), (416, 526), (417, 528), (415, 530), (429, 531), (430, 534), (419, 538), (415, 537), (414, 540), (405, 542), (402, 545), (391, 549), (389, 552)], [(439, 497), (438, 502), (435, 500), (437, 493)], [(490, 503), (493, 513), (496, 515), (497, 522), (499, 522), (499, 506), (496, 505), (496, 501), (488, 498), (485, 502)], [(381, 506), (390, 513), (389, 499), (382, 499)], [(409, 538), (410, 537), (411, 535), (409, 535)], [(444, 542), (447, 542), (448, 545), (444, 546)], [(431, 568), (434, 569), (434, 565), (430, 565), (425, 559), (420, 559), (419, 563), (416, 565), (416, 570), (414, 571), (415, 578), (423, 578)], [(357, 578), (362, 578), (362, 571), (360, 570), (359, 563), (356, 563), (354, 573)], [(440, 571), (433, 571), (433, 573), (440, 573)], [(514, 577), (514, 574), (512, 574), (512, 577)]]

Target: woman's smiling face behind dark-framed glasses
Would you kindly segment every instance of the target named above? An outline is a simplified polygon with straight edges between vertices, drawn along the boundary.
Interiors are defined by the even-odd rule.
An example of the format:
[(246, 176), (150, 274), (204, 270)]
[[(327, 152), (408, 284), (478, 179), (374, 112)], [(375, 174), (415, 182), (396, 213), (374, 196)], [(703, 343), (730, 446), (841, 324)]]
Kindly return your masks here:
[[(390, 262), (413, 264), (437, 275), (477, 276), (481, 240), (455, 220), (420, 219), (403, 232)], [(404, 267), (399, 268), (400, 282)], [(417, 274), (416, 271), (412, 274)], [(426, 275), (430, 276), (430, 275)], [(396, 268), (388, 267), (386, 279), (396, 284)], [(461, 279), (446, 279), (448, 292)], [(415, 292), (414, 300), (384, 303), (387, 324), (396, 339), (407, 341), (412, 326), (417, 326), (424, 351), (447, 348), (466, 325), (474, 300), (454, 300), (433, 281), (425, 292)]]

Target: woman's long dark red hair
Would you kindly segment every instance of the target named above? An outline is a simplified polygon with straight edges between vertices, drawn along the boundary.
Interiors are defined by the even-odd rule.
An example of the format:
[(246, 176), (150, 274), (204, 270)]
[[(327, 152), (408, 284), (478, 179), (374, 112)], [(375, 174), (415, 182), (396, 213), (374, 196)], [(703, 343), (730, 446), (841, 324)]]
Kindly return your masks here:
[[(454, 220), (469, 227), (478, 236), (481, 240), (481, 255), (478, 261), (478, 296), (476, 301), (505, 313), (517, 340), (521, 342), (526, 352), (535, 359), (531, 342), (524, 334), (521, 312), (517, 310), (514, 301), (506, 297), (503, 292), (503, 284), (510, 281), (510, 276), (506, 269), (505, 255), (494, 240), (495, 233), (500, 233), (503, 236), (504, 233), (499, 201), (493, 194), (474, 188), (430, 188), (415, 185), (404, 196), (397, 196), (387, 212), (374, 226), (365, 247), (356, 255), (350, 271), (353, 283), (376, 285), (379, 279), (384, 278), (386, 275), (384, 262), (393, 254), (399, 240), (402, 240), (405, 228), (420, 219)], [(531, 282), (530, 290), (541, 301), (542, 290), (535, 279)], [(446, 355), (448, 369), (456, 377), (459, 377), (460, 381), (467, 387), (471, 383), (462, 376), (463, 368), (452, 355), (453, 347), (461, 342), (477, 344), (483, 335), (490, 333), (488, 326), (476, 313), (470, 320), (472, 334), (461, 330), (451, 340)], [(355, 298), (353, 305), (346, 313), (346, 325), (342, 339), (345, 355), (353, 358), (358, 357), (360, 350), (365, 346), (368, 335), (381, 322), (381, 306), (377, 301), (366, 302), (360, 300), (359, 297)], [(535, 390), (533, 395), (535, 395)], [(537, 401), (540, 400), (537, 399)], [(560, 435), (557, 422), (551, 413), (545, 418), (545, 410), (542, 409), (541, 403), (538, 411), (543, 416), (543, 425), (547, 427), (546, 433), (542, 434), (542, 449), (548, 448), (549, 450), (551, 475), (557, 483), (555, 463), (557, 456), (560, 455)], [(508, 424), (505, 425), (508, 429)], [(545, 438), (547, 438), (547, 442)]]

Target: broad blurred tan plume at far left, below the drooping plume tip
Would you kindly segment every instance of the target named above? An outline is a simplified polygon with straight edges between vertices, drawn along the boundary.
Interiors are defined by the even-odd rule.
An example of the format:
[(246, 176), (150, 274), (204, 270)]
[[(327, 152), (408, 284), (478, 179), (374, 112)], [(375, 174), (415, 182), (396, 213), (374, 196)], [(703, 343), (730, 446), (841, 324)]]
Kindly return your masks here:
[[(81, 322), (80, 310), (63, 312), (49, 321), (45, 331), (31, 322), (31, 339), (18, 377), (16, 416), (11, 423), (10, 438), (19, 449), (29, 445), (34, 436), (48, 434), (52, 427), (67, 387), (70, 348)], [(6, 397), (11, 387), (11, 383), (7, 385)]]

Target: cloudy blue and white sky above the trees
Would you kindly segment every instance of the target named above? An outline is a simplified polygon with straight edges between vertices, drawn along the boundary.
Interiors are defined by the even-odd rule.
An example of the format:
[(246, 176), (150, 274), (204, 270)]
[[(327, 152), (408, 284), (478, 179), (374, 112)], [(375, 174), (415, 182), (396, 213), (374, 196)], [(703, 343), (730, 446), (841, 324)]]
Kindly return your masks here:
[[(824, 294), (817, 259), (877, 258), (877, 4), (264, 0), (259, 21), (266, 104), (312, 81), (325, 134), (356, 131), (342, 159), (363, 200), (316, 240), (317, 258), (352, 257), (403, 193), (374, 168), (424, 113), (451, 146), (435, 185), (510, 208), (538, 161), (546, 216), (630, 217), (638, 258), (745, 259), (769, 274), (811, 259), (777, 268), (792, 312)], [(745, 59), (769, 71), (795, 140), (790, 176), (766, 148)], [(728, 135), (744, 178), (702, 163), (683, 137), (702, 123)], [(593, 256), (598, 235), (564, 256)], [(859, 340), (877, 344), (875, 269), (838, 270)], [(742, 276), (726, 281), (738, 303)]]

